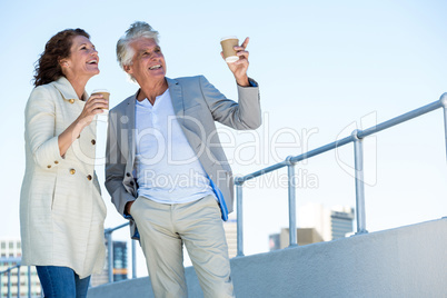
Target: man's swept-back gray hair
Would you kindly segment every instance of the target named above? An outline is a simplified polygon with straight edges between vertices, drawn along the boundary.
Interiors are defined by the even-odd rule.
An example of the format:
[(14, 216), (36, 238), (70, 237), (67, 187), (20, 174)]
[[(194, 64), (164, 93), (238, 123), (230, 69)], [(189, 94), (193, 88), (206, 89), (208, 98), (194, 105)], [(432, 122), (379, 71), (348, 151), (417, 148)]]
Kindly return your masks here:
[(130, 28), (126, 31), (126, 34), (121, 37), (117, 42), (117, 60), (122, 69), (125, 68), (125, 66), (132, 64), (135, 51), (130, 43), (139, 38), (153, 39), (157, 44), (159, 43), (158, 31), (153, 30), (153, 28), (150, 27), (149, 23), (141, 21), (136, 21), (135, 23), (132, 23)]

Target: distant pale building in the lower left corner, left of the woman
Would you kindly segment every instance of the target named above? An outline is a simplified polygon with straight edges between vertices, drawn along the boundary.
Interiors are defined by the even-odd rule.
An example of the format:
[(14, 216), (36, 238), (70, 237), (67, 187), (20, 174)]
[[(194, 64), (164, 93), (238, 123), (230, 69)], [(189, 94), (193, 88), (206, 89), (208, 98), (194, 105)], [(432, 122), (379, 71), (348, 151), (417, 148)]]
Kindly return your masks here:
[[(0, 240), (0, 271), (4, 271), (10, 267), (13, 267), (21, 261), (21, 241), (19, 239), (1, 239)], [(30, 282), (28, 280), (28, 270), (30, 270)], [(28, 297), (29, 286), (31, 288), (31, 296), (41, 295), (41, 287), (39, 277), (36, 271), (36, 267), (21, 266), (20, 276), (19, 270), (13, 269), (10, 274), (10, 296), (8, 296), (8, 275), (1, 275), (0, 279), (0, 297)], [(20, 277), (20, 284), (19, 284)], [(20, 294), (18, 295), (18, 290)]]

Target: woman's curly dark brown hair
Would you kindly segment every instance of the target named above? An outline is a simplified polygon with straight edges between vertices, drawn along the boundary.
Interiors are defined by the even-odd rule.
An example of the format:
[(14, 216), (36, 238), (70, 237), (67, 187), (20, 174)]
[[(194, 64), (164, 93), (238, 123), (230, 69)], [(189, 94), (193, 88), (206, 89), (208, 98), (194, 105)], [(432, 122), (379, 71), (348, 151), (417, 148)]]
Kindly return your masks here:
[(90, 39), (89, 33), (82, 29), (66, 29), (53, 36), (46, 44), (42, 54), (36, 62), (34, 86), (46, 85), (63, 77), (60, 59), (70, 56), (72, 40), (77, 36)]

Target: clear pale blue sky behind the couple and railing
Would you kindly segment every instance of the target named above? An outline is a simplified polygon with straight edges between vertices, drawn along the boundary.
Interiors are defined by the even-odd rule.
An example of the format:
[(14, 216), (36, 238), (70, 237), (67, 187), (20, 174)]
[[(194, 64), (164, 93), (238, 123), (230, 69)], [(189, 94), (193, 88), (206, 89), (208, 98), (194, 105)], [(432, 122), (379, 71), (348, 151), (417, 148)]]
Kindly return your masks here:
[[(224, 3), (224, 2), (219, 2)], [(430, 103), (447, 91), (445, 1), (2, 1), (0, 3), (0, 238), (19, 235), (24, 171), (23, 109), (33, 63), (44, 43), (66, 28), (83, 28), (100, 56), (101, 73), (87, 86), (108, 88), (111, 106), (133, 93), (115, 57), (115, 44), (135, 20), (161, 34), (168, 77), (205, 74), (236, 98), (219, 39), (249, 36), (249, 76), (261, 90), (265, 125), (257, 135), (222, 137), (232, 168), (246, 175)], [(364, 128), (366, 128), (364, 127)], [(226, 130), (227, 131), (227, 130)], [(308, 137), (306, 137), (306, 131)], [(278, 137), (279, 136), (279, 137)], [(249, 142), (259, 138), (260, 147)], [(276, 137), (278, 137), (276, 139)], [(231, 137), (232, 138), (232, 137)], [(299, 142), (294, 143), (294, 140)], [(395, 228), (446, 216), (447, 169), (441, 111), (367, 141), (367, 229)], [(271, 151), (272, 143), (286, 148)], [(288, 143), (287, 143), (288, 142)], [(247, 145), (248, 143), (248, 145)], [(307, 143), (307, 148), (305, 146)], [(244, 147), (247, 145), (247, 147)], [(314, 188), (297, 189), (298, 206), (355, 206), (352, 146), (298, 168)], [(252, 160), (250, 160), (252, 158)], [(247, 161), (247, 162), (244, 162)], [(340, 166), (344, 165), (344, 166)], [(102, 168), (98, 169), (103, 182)], [(285, 171), (280, 172), (281, 175)], [(265, 181), (264, 181), (265, 182)], [(268, 235), (288, 225), (287, 189), (245, 190), (247, 254), (266, 251)], [(109, 203), (106, 227), (123, 222)], [(126, 232), (122, 234), (126, 238)]]

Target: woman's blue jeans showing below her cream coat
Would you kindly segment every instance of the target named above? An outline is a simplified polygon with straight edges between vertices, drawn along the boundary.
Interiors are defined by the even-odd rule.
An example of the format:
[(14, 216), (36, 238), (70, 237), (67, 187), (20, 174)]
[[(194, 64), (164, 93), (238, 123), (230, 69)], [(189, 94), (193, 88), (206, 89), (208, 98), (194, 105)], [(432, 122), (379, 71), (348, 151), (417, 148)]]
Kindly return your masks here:
[(80, 279), (73, 269), (36, 266), (46, 298), (86, 298), (90, 277)]

